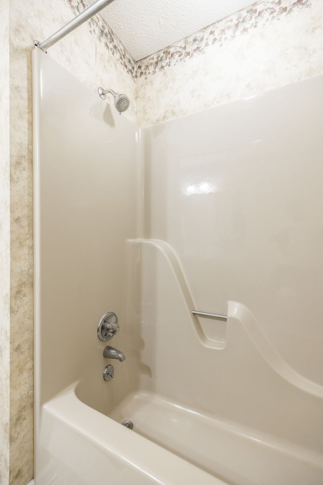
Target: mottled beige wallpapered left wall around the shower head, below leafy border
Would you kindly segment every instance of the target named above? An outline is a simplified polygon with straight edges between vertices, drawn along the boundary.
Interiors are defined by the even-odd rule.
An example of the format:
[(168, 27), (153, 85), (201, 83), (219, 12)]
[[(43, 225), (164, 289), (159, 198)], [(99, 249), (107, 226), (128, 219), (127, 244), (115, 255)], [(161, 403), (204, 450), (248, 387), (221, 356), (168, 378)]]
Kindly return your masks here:
[[(70, 7), (62, 0), (53, 0), (46, 5), (33, 0), (10, 2), (10, 483), (14, 485), (26, 485), (33, 477), (31, 51), (35, 38), (44, 40), (73, 16)], [(112, 87), (127, 92), (134, 100), (133, 76), (90, 33), (87, 24), (51, 47), (48, 56), (55, 58), (92, 90), (96, 91), (99, 85)], [(127, 116), (134, 120), (134, 113), (132, 103)], [(5, 342), (8, 335), (6, 337)]]

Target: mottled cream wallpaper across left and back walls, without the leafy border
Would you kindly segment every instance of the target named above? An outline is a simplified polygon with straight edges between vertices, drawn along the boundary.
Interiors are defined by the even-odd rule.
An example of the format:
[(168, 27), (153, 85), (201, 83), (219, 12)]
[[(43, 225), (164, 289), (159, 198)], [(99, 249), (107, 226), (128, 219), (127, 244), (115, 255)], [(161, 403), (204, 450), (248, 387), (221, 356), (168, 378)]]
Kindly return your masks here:
[[(75, 10), (77, 1), (70, 0), (69, 3)], [(260, 4), (263, 5), (263, 2)], [(3, 5), (7, 6), (4, 0)], [(51, 47), (48, 55), (55, 58), (93, 90), (96, 90), (98, 85), (103, 85), (126, 92), (133, 101), (127, 112), (129, 119), (136, 121), (137, 125), (149, 125), (204, 110), (241, 96), (250, 96), (273, 87), (293, 83), (322, 72), (323, 4), (321, 1), (313, 0), (310, 3), (308, 0), (302, 2), (283, 0), (280, 3), (267, 2), (265, 5), (267, 10), (262, 12), (257, 20), (252, 12), (240, 14), (243, 17), (240, 17), (237, 30), (232, 29), (233, 20), (229, 22), (231, 28), (229, 28), (229, 24), (229, 27), (226, 24), (226, 28), (220, 26), (223, 36), (220, 38), (218, 35), (212, 46), (205, 45), (204, 48), (202, 45), (205, 42), (205, 35), (195, 36), (200, 39), (197, 42), (202, 42), (202, 44), (193, 45), (192, 54), (186, 57), (185, 62), (180, 60), (181, 49), (176, 45), (174, 51), (178, 53), (178, 57), (172, 56), (175, 61), (168, 62), (167, 59), (165, 60), (165, 56), (159, 54), (157, 57), (151, 57), (145, 61), (150, 70), (143, 71), (142, 63), (139, 62), (134, 66), (131, 60), (128, 62), (122, 46), (120, 49), (117, 44), (112, 47), (110, 41), (107, 40), (107, 35), (105, 37), (101, 35), (99, 21), (93, 21), (90, 27), (87, 24), (83, 25), (65, 40)], [(8, 7), (2, 9), (2, 12), (8, 12)], [(42, 40), (48, 37), (71, 17), (73, 17), (73, 13), (63, 0), (53, 0), (44, 7), (34, 0), (28, 2), (27, 0), (20, 2), (13, 0), (10, 3), (10, 286), (12, 309), (10, 481), (15, 485), (25, 485), (33, 475), (30, 54), (35, 38)], [(2, 30), (6, 24), (5, 18), (6, 15), (2, 14)], [(6, 25), (8, 29), (8, 22)], [(214, 33), (211, 31), (208, 33), (213, 36), (213, 42)], [(2, 38), (8, 39), (8, 35), (3, 35)], [(204, 40), (201, 40), (202, 38)], [(188, 43), (190, 42), (191, 40), (188, 40)], [(187, 49), (187, 42), (184, 47)], [(8, 49), (2, 48), (1, 62), (5, 61), (6, 66), (9, 63), (7, 53)], [(166, 54), (166, 58), (167, 56), (169, 55)], [(150, 61), (152, 64), (153, 61), (156, 61), (154, 69), (151, 69)], [(137, 70), (136, 82), (134, 80), (135, 70)], [(6, 71), (3, 69), (1, 71), (3, 80)], [(141, 71), (143, 74), (140, 76)], [(169, 88), (165, 90), (165, 86), (169, 86)], [(137, 98), (137, 114), (135, 98)], [(2, 103), (3, 100), (2, 96)], [(8, 126), (8, 123), (6, 125)], [(8, 129), (2, 131), (1, 136), (2, 138), (8, 137)], [(6, 142), (4, 146), (6, 146)], [(4, 153), (9, 152), (8, 150), (2, 152), (2, 156)], [(6, 212), (4, 203), (8, 200), (9, 195), (8, 165), (4, 164), (1, 170), (4, 171), (4, 178), (2, 178), (0, 210), (3, 224), (6, 224), (8, 212)], [(2, 230), (8, 234), (6, 225), (2, 226)], [(5, 261), (4, 274), (6, 274), (9, 270), (8, 238), (4, 241), (3, 254), (6, 257), (2, 264)], [(8, 278), (6, 281), (8, 283)], [(6, 295), (8, 295), (8, 288), (5, 288), (0, 297), (5, 307), (8, 305)], [(2, 335), (6, 331), (5, 318), (1, 331)], [(6, 350), (6, 343), (8, 346), (8, 338), (7, 332), (2, 344), (4, 350)], [(6, 360), (6, 357), (4, 359)], [(8, 365), (6, 368), (9, 371)], [(6, 388), (8, 391), (8, 386)], [(8, 395), (9, 391), (5, 399), (8, 399)], [(1, 485), (7, 485), (6, 477), (4, 480), (4, 484), (1, 483)]]

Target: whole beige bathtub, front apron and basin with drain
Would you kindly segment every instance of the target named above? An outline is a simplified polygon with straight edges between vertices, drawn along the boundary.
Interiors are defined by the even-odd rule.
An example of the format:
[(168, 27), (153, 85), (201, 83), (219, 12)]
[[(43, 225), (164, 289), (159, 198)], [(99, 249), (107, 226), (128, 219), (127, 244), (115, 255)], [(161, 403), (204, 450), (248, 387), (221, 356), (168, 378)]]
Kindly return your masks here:
[[(44, 405), (46, 464), (36, 484), (322, 483), (320, 455), (151, 393), (128, 397), (111, 417), (82, 403), (75, 389)], [(133, 430), (120, 424), (124, 419)]]

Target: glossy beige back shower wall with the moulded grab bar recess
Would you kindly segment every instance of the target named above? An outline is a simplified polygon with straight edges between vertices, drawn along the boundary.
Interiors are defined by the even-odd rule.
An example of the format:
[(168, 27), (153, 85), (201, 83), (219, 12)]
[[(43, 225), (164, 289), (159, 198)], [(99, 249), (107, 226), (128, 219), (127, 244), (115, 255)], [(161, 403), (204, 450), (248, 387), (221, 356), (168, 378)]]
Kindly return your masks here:
[[(145, 130), (144, 236), (175, 251), (195, 310), (226, 314), (228, 301), (244, 304), (287, 364), (318, 384), (322, 96), (319, 76)], [(160, 268), (143, 291), (143, 332), (154, 332), (155, 348), (142, 360), (155, 356), (155, 391), (317, 448), (321, 400), (272, 375), (234, 322), (200, 319), (219, 344), (201, 349), (191, 336), (194, 308), (168, 292), (173, 276), (160, 254), (142, 255), (147, 274)]]

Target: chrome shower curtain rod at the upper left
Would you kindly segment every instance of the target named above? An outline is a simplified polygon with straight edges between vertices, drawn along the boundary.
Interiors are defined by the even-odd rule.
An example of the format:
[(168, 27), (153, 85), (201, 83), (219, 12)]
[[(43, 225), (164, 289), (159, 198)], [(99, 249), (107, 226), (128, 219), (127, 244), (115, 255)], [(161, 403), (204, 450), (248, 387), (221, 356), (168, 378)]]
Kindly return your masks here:
[(93, 17), (93, 15), (100, 12), (100, 10), (104, 9), (104, 7), (111, 4), (113, 1), (114, 0), (96, 0), (93, 5), (77, 15), (73, 20), (64, 25), (64, 27), (55, 32), (55, 34), (52, 34), (50, 37), (48, 37), (48, 39), (44, 40), (43, 42), (39, 42), (39, 40), (34, 40), (34, 46), (39, 47), (39, 49), (46, 52), (48, 47), (51, 47), (53, 44), (61, 40), (63, 37), (65, 37), (65, 35), (72, 32), (74, 29), (83, 24), (83, 22)]

